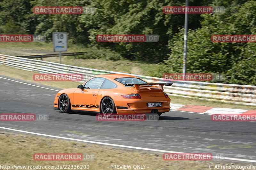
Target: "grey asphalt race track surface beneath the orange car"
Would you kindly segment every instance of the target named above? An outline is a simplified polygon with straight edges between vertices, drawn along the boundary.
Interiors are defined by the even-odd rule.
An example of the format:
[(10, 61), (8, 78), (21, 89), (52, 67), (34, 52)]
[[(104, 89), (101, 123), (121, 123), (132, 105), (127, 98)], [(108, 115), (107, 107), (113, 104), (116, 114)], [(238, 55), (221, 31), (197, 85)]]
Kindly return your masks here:
[(157, 121), (97, 121), (93, 114), (53, 110), (57, 91), (51, 89), (58, 88), (0, 77), (15, 80), (0, 78), (0, 113), (49, 115), (44, 121), (0, 121), (0, 127), (108, 144), (224, 154), (256, 162), (255, 122), (213, 122), (211, 115), (183, 111), (164, 113)]

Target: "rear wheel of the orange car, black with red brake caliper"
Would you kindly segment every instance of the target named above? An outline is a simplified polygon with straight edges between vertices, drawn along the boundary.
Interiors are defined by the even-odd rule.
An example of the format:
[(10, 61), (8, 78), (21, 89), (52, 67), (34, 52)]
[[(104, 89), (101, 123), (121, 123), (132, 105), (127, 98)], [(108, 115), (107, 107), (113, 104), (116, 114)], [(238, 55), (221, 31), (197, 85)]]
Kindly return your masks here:
[(104, 97), (100, 103), (100, 113), (106, 117), (116, 113), (116, 105), (111, 97)]

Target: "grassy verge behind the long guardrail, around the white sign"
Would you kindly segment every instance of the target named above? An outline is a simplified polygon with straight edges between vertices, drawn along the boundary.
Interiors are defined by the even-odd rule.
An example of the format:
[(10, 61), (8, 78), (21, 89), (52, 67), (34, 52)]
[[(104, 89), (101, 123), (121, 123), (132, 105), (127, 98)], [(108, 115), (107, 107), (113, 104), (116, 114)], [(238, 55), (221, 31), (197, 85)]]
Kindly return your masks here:
[[(62, 64), (80, 67), (104, 69), (123, 73), (152, 76), (157, 72), (159, 64), (123, 59), (120, 54), (108, 49), (95, 49), (83, 45), (68, 44), (68, 52), (88, 52), (83, 56), (62, 57)], [(0, 53), (12, 56), (40, 55), (57, 53), (52, 50), (52, 43), (44, 42), (1, 42)], [(66, 52), (63, 52), (66, 53)], [(112, 60), (110, 60), (112, 59)], [(59, 57), (44, 58), (45, 61), (59, 62)]]

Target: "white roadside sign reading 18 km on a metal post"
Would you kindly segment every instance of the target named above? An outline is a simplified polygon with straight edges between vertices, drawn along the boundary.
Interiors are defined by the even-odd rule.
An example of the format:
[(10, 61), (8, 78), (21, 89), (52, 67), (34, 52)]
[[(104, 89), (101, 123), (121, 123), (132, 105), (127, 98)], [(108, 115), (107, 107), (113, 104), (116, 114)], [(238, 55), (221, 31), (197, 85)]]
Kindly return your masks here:
[(59, 52), (61, 63), (61, 52), (68, 50), (68, 32), (52, 32), (53, 51)]

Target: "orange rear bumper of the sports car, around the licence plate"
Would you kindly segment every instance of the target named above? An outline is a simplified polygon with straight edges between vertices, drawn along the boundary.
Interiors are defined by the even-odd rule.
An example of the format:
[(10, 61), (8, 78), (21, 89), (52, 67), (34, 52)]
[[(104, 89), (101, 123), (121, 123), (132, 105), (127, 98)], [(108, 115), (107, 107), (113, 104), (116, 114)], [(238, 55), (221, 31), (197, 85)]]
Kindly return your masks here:
[[(113, 98), (113, 100), (116, 105), (117, 114), (151, 113), (151, 110), (153, 109), (157, 109), (158, 112), (161, 113), (170, 111), (171, 99), (169, 97), (142, 97), (141, 99), (124, 99), (122, 96), (116, 96)], [(162, 103), (162, 106), (148, 107), (148, 103)]]

